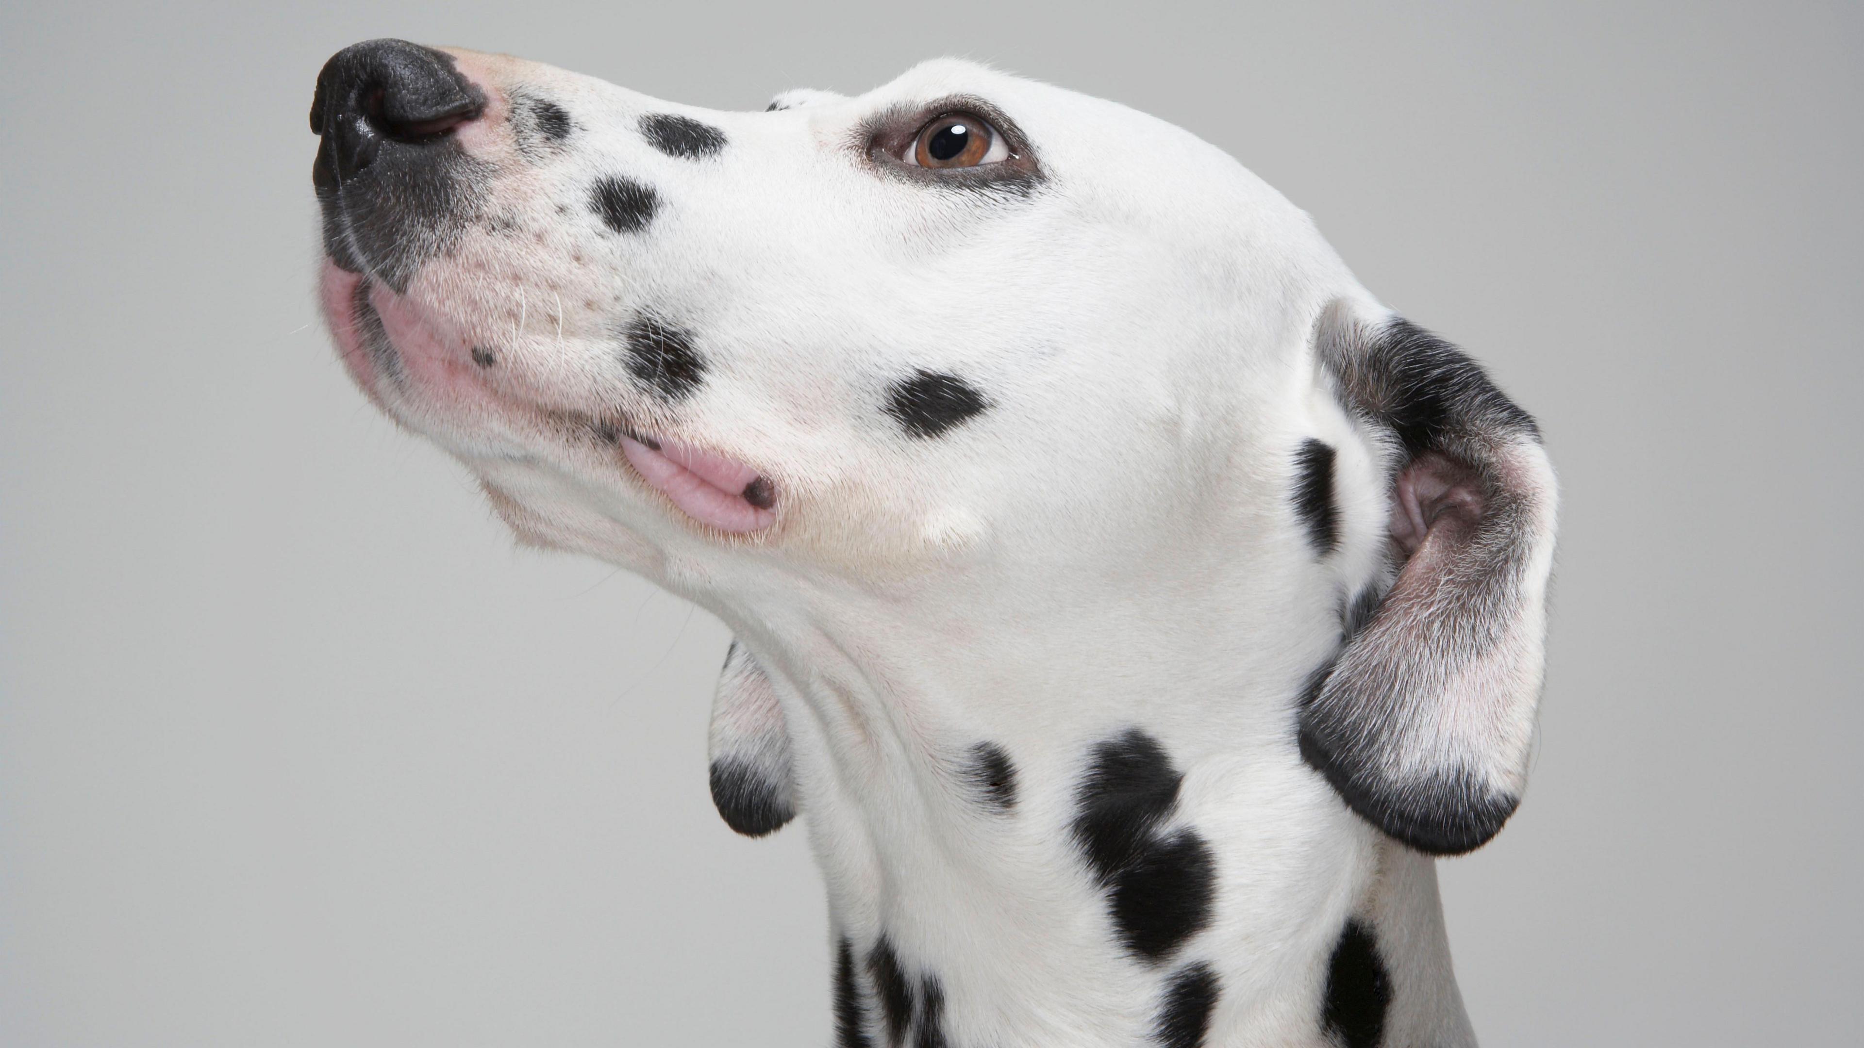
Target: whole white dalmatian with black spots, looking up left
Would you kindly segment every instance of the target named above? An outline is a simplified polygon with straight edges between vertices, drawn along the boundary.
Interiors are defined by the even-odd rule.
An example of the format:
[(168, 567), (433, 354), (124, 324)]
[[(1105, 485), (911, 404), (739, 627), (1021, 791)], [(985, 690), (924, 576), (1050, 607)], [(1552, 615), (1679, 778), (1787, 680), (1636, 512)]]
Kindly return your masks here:
[(1473, 1044), (1534, 421), (1186, 131), (966, 62), (766, 112), (354, 45), (354, 380), (522, 543), (723, 619), (712, 796), (807, 813), (841, 1048)]

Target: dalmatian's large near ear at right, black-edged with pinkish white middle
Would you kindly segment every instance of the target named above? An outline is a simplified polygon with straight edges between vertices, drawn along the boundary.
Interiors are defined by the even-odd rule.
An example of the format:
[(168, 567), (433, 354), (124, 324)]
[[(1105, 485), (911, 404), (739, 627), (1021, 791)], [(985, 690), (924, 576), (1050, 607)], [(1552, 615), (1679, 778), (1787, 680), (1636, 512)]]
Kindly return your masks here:
[[(1527, 783), (1556, 490), (1540, 429), (1469, 356), (1333, 302), (1320, 365), (1387, 446), (1396, 578), (1301, 701), (1301, 757), (1432, 854), (1487, 843)], [(1370, 602), (1366, 602), (1370, 604)]]

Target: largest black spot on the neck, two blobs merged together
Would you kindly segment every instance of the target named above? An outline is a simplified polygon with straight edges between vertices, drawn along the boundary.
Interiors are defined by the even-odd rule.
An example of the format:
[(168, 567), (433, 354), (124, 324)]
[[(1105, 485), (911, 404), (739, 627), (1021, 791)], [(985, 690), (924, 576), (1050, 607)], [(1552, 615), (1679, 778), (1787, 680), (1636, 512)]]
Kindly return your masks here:
[(1161, 960), (1210, 923), (1215, 856), (1193, 832), (1161, 835), (1182, 776), (1150, 735), (1130, 729), (1094, 748), (1077, 793), (1074, 837), (1109, 889), (1113, 925), (1133, 953)]

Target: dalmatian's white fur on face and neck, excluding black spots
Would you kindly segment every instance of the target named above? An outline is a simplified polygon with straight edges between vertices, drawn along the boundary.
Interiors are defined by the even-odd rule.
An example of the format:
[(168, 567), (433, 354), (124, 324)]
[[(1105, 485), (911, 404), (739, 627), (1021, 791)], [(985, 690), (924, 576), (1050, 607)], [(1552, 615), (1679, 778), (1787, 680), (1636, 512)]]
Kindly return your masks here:
[[(498, 101), (460, 131), (516, 233), (470, 233), (406, 298), (496, 343), (500, 367), (373, 393), (473, 468), (522, 539), (637, 571), (733, 627), (761, 673), (721, 697), (749, 703), (725, 731), (781, 712), (837, 936), (885, 931), (936, 972), (954, 1046), (1143, 1042), (1186, 960), (1221, 981), (1208, 1044), (1325, 1044), (1327, 957), (1357, 914), (1396, 988), (1385, 1044), (1473, 1042), (1432, 862), (1351, 815), (1294, 748), (1342, 599), (1387, 571), (1389, 448), (1310, 347), (1329, 302), (1374, 300), (1305, 213), (1176, 127), (964, 62), (854, 99), (792, 91), (768, 114), (507, 58), (460, 67), (494, 97), (559, 101), (576, 132), (535, 162)], [(876, 175), (863, 121), (945, 95), (1008, 114), (1044, 185), (980, 200)], [(729, 147), (660, 155), (636, 131), (652, 112)], [(589, 214), (608, 173), (660, 194), (647, 233)], [(690, 401), (662, 405), (619, 364), (611, 323), (637, 308), (697, 332), (710, 371)], [(917, 367), (964, 375), (992, 408), (902, 436), (882, 405)], [(544, 408), (619, 408), (747, 462), (775, 483), (779, 524), (699, 528)], [(1288, 500), (1309, 436), (1338, 449), (1327, 558)], [(1538, 645), (1538, 591), (1532, 606), (1515, 640)], [(1532, 707), (1512, 716), (1501, 731), (1530, 731)], [(1217, 867), (1215, 919), (1163, 966), (1118, 949), (1068, 832), (1085, 755), (1133, 725), (1186, 772), (1172, 826), (1195, 826)], [(953, 776), (979, 740), (1014, 757), (1014, 817)]]

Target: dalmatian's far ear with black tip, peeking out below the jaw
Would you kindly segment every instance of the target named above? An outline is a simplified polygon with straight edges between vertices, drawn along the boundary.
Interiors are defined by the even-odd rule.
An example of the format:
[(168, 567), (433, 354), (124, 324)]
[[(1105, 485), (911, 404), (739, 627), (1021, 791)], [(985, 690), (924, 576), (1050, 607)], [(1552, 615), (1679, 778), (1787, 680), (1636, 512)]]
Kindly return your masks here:
[(770, 677), (731, 641), (712, 694), (712, 804), (746, 837), (774, 834), (796, 817), (790, 737)]

